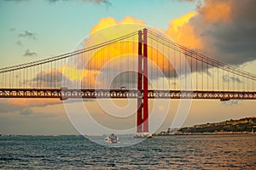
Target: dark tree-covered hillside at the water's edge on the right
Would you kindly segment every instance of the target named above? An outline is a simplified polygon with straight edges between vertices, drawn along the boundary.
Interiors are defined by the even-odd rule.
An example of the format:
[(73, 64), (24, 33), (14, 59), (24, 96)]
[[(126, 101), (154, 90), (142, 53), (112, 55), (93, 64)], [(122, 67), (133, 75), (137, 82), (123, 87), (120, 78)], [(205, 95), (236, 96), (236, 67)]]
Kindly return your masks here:
[(245, 117), (239, 120), (214, 122), (193, 127), (182, 127), (175, 134), (202, 134), (202, 133), (255, 133), (256, 117)]

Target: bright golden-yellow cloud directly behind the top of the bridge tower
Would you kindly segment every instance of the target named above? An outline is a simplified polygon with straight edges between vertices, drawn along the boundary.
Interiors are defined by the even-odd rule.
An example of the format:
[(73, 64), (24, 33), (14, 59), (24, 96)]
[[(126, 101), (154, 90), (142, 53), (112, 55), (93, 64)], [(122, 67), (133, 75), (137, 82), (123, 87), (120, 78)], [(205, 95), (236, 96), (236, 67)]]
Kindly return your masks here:
[[(85, 48), (101, 42), (108, 42), (109, 40), (127, 35), (131, 32), (135, 32), (136, 35), (96, 49), (91, 56), (80, 56), (88, 61), (88, 63), (83, 66), (84, 70), (76, 65), (68, 65), (63, 67), (61, 72), (71, 81), (90, 81), (91, 83), (88, 86), (91, 88), (91, 86), (100, 85), (101, 82), (96, 80), (96, 77), (98, 74), (102, 74), (101, 70), (106, 65), (108, 65), (108, 69), (111, 71), (137, 70), (137, 58), (134, 57), (138, 54), (137, 31), (142, 30), (145, 26), (143, 20), (137, 20), (131, 16), (126, 16), (120, 21), (114, 20), (111, 17), (101, 19), (96, 26), (91, 28), (90, 37), (87, 38), (84, 43)], [(158, 57), (156, 58), (155, 56)], [(148, 45), (148, 59), (150, 59), (154, 65), (159, 65), (166, 73), (173, 69), (171, 63), (166, 59), (166, 56), (161, 54), (160, 51), (157, 51), (154, 47), (150, 47), (150, 45)], [(129, 68), (127, 62), (129, 62), (128, 65), (130, 65)], [(101, 81), (104, 81), (103, 78)]]

